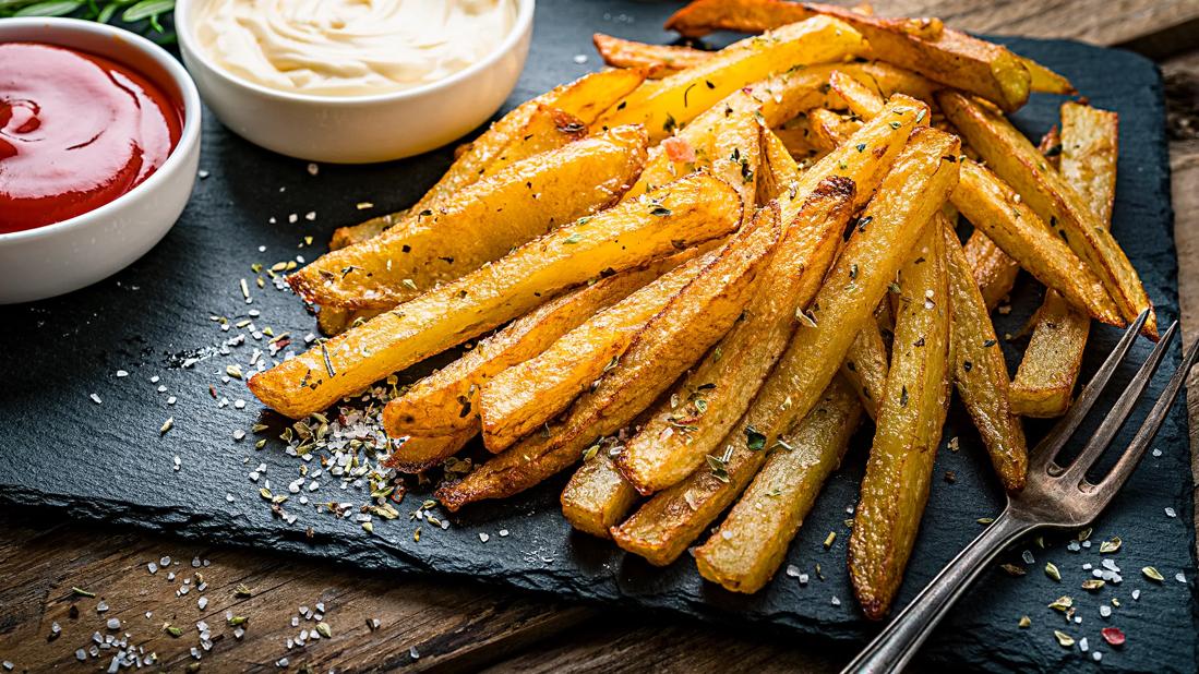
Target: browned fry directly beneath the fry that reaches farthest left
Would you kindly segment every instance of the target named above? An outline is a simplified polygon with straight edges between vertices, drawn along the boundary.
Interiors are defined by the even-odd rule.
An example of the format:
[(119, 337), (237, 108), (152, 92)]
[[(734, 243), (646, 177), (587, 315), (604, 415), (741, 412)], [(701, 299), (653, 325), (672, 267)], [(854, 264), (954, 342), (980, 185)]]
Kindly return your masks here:
[(450, 440), (464, 435), (469, 439), (480, 431), (478, 397), (487, 381), (505, 368), (542, 353), (595, 312), (623, 300), (663, 272), (693, 258), (693, 251), (691, 248), (644, 267), (622, 271), (552, 300), (414, 384), (384, 408), (382, 422), (387, 435), (406, 438), (392, 451), (388, 465), (405, 473), (418, 473), (457, 451), (459, 447)]

